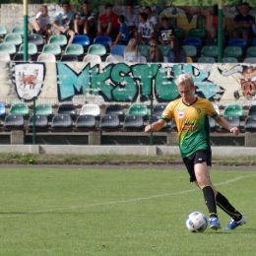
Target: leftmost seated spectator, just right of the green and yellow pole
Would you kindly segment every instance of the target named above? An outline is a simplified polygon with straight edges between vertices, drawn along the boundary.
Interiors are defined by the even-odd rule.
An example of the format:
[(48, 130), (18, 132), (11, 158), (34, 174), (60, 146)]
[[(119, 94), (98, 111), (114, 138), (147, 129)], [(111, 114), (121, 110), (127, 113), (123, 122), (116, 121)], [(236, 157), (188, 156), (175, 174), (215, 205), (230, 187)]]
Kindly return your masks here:
[(48, 10), (45, 5), (42, 5), (35, 16), (35, 20), (33, 21), (33, 30), (36, 33), (46, 36), (47, 42), (52, 34), (50, 19), (48, 16)]

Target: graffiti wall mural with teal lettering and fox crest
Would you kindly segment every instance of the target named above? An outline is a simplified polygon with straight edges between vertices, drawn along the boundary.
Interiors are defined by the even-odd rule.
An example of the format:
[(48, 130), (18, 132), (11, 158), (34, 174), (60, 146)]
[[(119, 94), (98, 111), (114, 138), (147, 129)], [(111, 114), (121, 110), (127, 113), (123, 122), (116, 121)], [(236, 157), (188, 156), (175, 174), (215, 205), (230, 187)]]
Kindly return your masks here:
[(167, 102), (178, 97), (174, 81), (182, 73), (194, 77), (197, 96), (220, 104), (228, 100), (255, 103), (256, 66), (245, 63), (0, 62), (0, 94), (28, 102), (33, 97), (65, 101), (75, 96), (99, 96), (105, 102), (146, 101), (153, 96)]

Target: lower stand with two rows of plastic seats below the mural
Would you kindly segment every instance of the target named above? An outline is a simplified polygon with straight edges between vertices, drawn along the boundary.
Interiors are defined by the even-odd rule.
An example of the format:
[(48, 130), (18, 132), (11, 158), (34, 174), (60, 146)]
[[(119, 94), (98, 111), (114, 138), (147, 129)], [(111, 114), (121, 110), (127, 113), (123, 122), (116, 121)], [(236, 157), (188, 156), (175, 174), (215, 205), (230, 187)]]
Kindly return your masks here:
[[(54, 103), (52, 103), (54, 102)], [(146, 134), (148, 123), (158, 120), (166, 103), (109, 102), (97, 104), (63, 101), (57, 98), (0, 98), (1, 145), (177, 145), (173, 121), (159, 132)], [(240, 106), (235, 100), (219, 101), (216, 110), (233, 126), (240, 128), (235, 137), (210, 120), (212, 146), (255, 147), (253, 106)], [(35, 116), (35, 118), (33, 118)], [(252, 124), (246, 128), (248, 117)], [(254, 119), (253, 119), (254, 118)], [(254, 121), (254, 122), (253, 122)], [(255, 127), (254, 127), (255, 126)]]

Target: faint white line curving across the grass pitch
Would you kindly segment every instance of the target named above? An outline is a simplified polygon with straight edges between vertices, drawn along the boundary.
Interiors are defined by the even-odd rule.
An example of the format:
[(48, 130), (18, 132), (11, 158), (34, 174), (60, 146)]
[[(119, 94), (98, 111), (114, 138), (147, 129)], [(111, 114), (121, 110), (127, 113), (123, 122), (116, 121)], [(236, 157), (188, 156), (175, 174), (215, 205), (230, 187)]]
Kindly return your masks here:
[[(226, 180), (224, 182), (221, 182), (221, 183), (217, 183), (217, 184), (215, 184), (215, 186), (222, 186), (224, 184), (229, 184), (229, 183), (236, 182), (236, 181), (238, 181), (240, 179), (243, 179), (243, 178), (251, 178), (251, 177), (255, 177), (255, 176), (256, 176), (256, 174), (247, 175), (247, 176), (240, 176), (240, 177), (236, 177), (236, 178), (233, 178), (233, 179), (228, 179), (228, 180)], [(160, 197), (186, 194), (186, 193), (195, 192), (195, 191), (198, 191), (198, 188), (183, 190), (183, 191), (174, 192), (174, 193), (154, 195), (154, 196), (150, 196), (150, 197), (133, 198), (133, 199), (122, 200), (122, 201), (110, 201), (110, 202), (106, 202), (106, 203), (97, 203), (97, 204), (90, 204), (90, 205), (79, 205), (79, 206), (73, 206), (73, 207), (67, 207), (67, 208), (61, 208), (61, 209), (49, 209), (49, 210), (44, 210), (44, 211), (34, 211), (34, 212), (20, 213), (20, 214), (7, 214), (7, 215), (1, 215), (0, 214), (0, 219), (12, 218), (12, 217), (21, 217), (21, 216), (29, 216), (29, 215), (36, 215), (36, 214), (47, 214), (47, 213), (51, 213), (51, 212), (62, 212), (62, 211), (69, 211), (69, 210), (76, 210), (76, 209), (83, 209), (83, 208), (93, 208), (93, 207), (98, 207), (98, 206), (110, 206), (110, 205), (116, 205), (116, 204), (127, 204), (127, 203), (133, 203), (133, 202), (138, 202), (138, 201), (151, 200), (151, 199), (160, 198)]]

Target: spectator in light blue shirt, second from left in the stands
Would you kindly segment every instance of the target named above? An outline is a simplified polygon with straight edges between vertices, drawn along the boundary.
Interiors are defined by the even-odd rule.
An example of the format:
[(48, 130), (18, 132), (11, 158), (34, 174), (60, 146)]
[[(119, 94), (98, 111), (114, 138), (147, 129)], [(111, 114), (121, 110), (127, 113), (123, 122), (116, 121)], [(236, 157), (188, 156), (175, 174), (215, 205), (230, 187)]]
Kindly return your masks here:
[(70, 11), (70, 4), (68, 1), (62, 2), (62, 12), (59, 12), (54, 19), (53, 27), (57, 34), (68, 35), (68, 44), (72, 43), (75, 32), (72, 30), (74, 25), (74, 13)]

